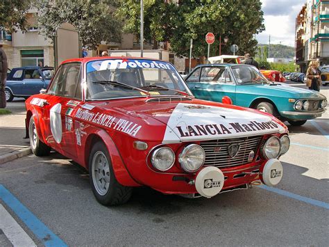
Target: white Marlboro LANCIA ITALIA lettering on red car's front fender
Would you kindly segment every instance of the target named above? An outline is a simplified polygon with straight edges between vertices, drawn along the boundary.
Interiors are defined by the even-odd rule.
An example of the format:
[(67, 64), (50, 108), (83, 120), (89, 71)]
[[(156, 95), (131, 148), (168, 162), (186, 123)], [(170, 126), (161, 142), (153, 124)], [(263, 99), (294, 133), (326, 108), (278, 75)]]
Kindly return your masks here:
[(115, 118), (114, 116), (108, 115), (106, 113), (93, 113), (87, 109), (78, 109), (78, 111), (76, 111), (75, 117), (81, 120), (94, 122), (104, 127), (115, 129), (119, 132), (124, 132), (130, 136), (136, 136), (140, 129), (142, 129), (141, 125), (137, 125), (134, 122), (130, 122), (121, 118)]

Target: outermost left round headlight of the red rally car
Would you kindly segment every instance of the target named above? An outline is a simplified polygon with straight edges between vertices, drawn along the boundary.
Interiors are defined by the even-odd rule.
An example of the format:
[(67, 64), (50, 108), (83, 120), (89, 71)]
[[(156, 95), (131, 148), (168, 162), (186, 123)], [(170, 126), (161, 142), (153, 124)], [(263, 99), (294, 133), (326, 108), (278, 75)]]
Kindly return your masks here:
[(174, 165), (175, 154), (171, 148), (159, 148), (154, 150), (151, 163), (158, 170), (169, 170)]

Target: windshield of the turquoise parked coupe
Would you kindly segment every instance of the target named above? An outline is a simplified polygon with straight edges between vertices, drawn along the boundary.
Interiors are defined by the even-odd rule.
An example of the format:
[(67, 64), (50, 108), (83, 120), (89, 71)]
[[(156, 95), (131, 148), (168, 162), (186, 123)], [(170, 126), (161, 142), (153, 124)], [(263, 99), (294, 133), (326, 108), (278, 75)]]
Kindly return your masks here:
[(237, 83), (269, 83), (267, 79), (254, 66), (234, 66), (233, 74), (237, 79)]

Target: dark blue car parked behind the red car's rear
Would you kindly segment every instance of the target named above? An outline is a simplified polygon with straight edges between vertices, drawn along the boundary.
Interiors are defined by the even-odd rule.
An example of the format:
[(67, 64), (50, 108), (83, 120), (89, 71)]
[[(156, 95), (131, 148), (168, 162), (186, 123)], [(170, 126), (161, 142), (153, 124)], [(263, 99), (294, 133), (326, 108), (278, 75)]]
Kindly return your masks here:
[(28, 98), (47, 88), (53, 77), (53, 67), (15, 67), (10, 71), (6, 82), (6, 100), (14, 97)]

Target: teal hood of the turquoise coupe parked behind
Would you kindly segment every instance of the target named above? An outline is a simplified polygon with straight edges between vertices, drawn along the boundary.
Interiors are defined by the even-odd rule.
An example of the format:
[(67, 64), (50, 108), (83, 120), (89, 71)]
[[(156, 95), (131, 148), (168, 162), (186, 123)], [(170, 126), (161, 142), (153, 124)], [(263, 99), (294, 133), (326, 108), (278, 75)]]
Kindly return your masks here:
[(260, 94), (264, 95), (272, 95), (276, 97), (291, 97), (294, 99), (325, 99), (326, 97), (321, 93), (308, 90), (304, 88), (296, 88), (289, 86), (285, 83), (273, 83), (273, 84), (257, 84), (253, 85), (253, 91), (259, 92)]

